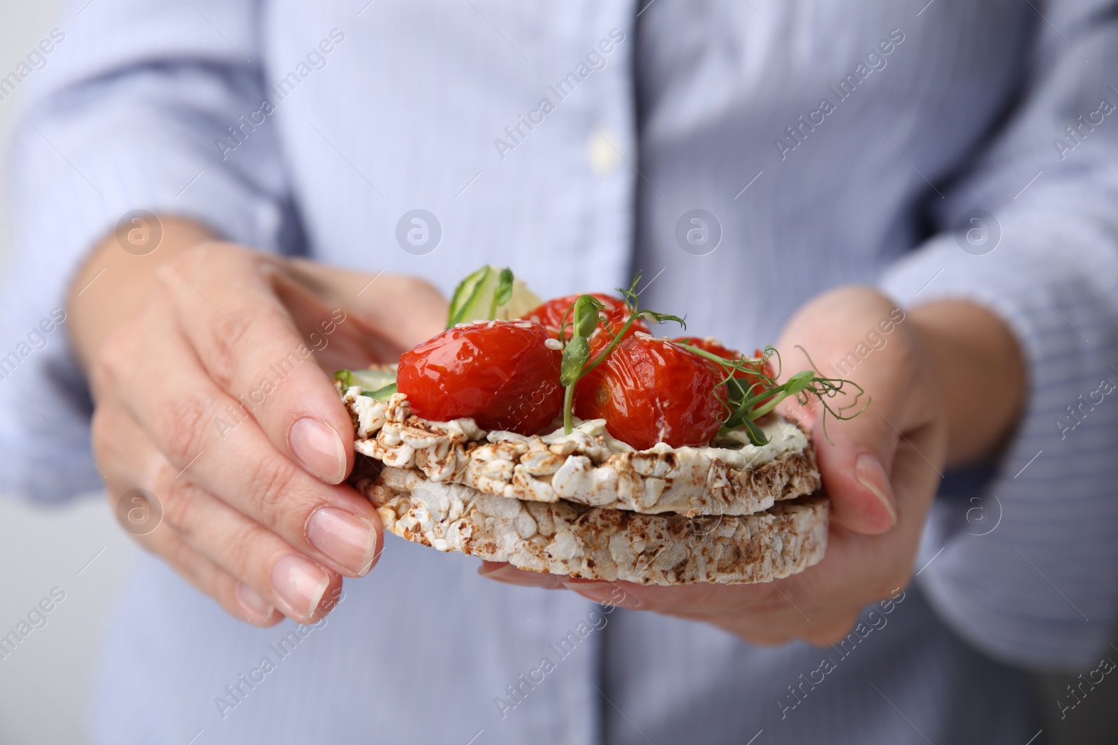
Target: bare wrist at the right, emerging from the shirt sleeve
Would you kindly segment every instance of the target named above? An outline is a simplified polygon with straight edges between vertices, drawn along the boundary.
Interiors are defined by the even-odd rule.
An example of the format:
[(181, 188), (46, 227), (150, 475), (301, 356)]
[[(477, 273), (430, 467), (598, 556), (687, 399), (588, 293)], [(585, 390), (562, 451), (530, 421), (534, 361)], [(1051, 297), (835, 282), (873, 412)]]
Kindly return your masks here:
[(1016, 337), (1001, 317), (968, 300), (931, 303), (909, 317), (940, 382), (947, 465), (991, 458), (1024, 408), (1026, 370)]

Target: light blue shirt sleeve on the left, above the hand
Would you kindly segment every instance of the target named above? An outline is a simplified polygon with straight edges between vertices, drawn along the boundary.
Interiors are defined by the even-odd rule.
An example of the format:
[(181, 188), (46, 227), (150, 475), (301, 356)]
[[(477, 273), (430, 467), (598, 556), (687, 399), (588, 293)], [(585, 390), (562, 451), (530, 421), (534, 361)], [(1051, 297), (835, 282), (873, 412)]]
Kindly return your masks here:
[(183, 216), (282, 247), (290, 198), (275, 124), (262, 122), (257, 15), (255, 0), (82, 0), (22, 84), (0, 312), (0, 491), (56, 500), (100, 486), (64, 296), (125, 216)]

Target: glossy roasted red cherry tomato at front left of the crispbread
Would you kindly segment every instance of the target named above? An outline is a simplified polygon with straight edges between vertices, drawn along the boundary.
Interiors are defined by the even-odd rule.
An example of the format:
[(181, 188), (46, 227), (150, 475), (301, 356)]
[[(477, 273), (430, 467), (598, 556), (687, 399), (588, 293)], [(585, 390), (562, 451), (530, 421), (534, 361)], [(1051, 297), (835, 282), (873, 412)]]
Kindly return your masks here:
[(562, 408), (562, 353), (549, 338), (531, 321), (448, 328), (400, 357), (396, 385), (417, 417), (473, 417), (482, 429), (534, 434)]

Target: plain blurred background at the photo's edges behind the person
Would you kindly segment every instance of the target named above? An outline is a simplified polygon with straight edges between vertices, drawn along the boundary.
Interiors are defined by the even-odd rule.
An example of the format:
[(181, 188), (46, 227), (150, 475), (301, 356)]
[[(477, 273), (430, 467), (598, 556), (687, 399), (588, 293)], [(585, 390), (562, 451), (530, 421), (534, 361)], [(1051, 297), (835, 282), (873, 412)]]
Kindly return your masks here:
[[(0, 70), (13, 69), (26, 57), (50, 29), (58, 4), (56, 0), (0, 0)], [(3, 173), (26, 87), (0, 101)], [(0, 273), (11, 245), (9, 203), (4, 192), (0, 198)], [(4, 567), (0, 636), (26, 619), (51, 590), (58, 589), (55, 598), (58, 591), (65, 593), (65, 600), (47, 614), (47, 624), (0, 659), (0, 745), (86, 742), (78, 728), (100, 639), (136, 552), (101, 495), (84, 495), (56, 508), (32, 507), (15, 495), (0, 495), (0, 566)], [(1118, 662), (1118, 644), (1110, 659)], [(1108, 677), (1073, 717), (1061, 720), (1055, 700), (1073, 680), (1078, 682), (1076, 676), (1038, 677), (1039, 700), (1048, 717), (1045, 736), (1059, 744), (1118, 742), (1118, 681)]]

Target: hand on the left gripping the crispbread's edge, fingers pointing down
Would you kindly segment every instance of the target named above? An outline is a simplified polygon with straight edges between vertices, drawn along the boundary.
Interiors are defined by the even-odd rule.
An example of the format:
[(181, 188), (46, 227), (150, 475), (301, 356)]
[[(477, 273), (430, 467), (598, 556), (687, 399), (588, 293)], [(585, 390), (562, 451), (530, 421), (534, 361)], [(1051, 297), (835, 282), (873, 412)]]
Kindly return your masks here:
[(162, 520), (139, 542), (234, 617), (314, 622), (383, 537), (344, 484), (353, 428), (331, 373), (395, 361), (442, 331), (446, 302), (418, 279), (370, 285), (160, 221), (152, 254), (115, 236), (94, 249), (67, 303), (110, 504), (155, 495)]

